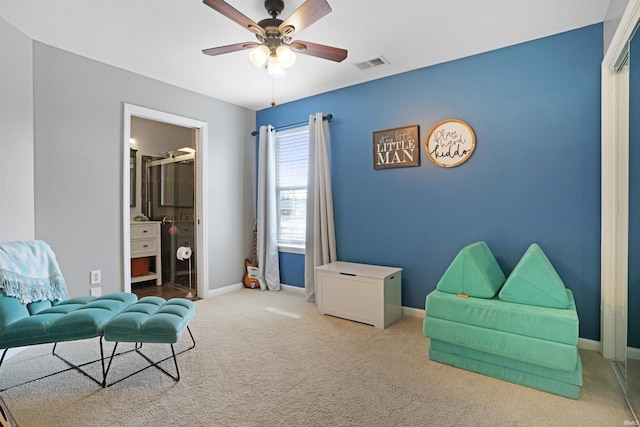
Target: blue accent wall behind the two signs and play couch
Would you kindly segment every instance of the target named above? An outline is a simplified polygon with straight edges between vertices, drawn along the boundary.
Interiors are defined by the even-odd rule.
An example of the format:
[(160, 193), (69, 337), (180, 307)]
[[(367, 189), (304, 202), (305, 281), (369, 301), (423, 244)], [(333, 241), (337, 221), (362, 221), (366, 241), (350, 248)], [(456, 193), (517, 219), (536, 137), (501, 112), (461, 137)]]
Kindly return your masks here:
[[(402, 305), (424, 308), (470, 243), (486, 241), (508, 275), (535, 242), (574, 292), (580, 336), (599, 340), (602, 40), (597, 24), (278, 105), (256, 121), (333, 114), (338, 258), (402, 267)], [(476, 150), (441, 168), (424, 142), (448, 118), (473, 128)], [(374, 170), (372, 132), (413, 124), (421, 165)], [(281, 261), (283, 283), (304, 270), (303, 256)]]

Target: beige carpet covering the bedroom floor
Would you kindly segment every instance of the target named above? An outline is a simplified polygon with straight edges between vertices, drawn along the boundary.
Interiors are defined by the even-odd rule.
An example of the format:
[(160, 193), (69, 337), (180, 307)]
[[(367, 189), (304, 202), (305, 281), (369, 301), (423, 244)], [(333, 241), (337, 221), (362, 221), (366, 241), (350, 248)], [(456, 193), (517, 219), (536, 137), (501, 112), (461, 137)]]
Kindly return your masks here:
[[(420, 318), (376, 329), (321, 316), (290, 290), (245, 288), (197, 301), (191, 330), (197, 345), (178, 356), (179, 382), (147, 369), (102, 389), (70, 371), (2, 397), (21, 427), (633, 423), (609, 361), (591, 351), (581, 351), (584, 386), (572, 400), (430, 361)], [(178, 349), (189, 344), (187, 335)], [(158, 358), (170, 354), (166, 345), (144, 348)], [(98, 340), (63, 343), (58, 351), (91, 360)], [(64, 368), (50, 352), (50, 345), (36, 346), (6, 361), (0, 387)], [(109, 381), (144, 363), (135, 353), (119, 356)], [(100, 371), (98, 364), (88, 369)]]

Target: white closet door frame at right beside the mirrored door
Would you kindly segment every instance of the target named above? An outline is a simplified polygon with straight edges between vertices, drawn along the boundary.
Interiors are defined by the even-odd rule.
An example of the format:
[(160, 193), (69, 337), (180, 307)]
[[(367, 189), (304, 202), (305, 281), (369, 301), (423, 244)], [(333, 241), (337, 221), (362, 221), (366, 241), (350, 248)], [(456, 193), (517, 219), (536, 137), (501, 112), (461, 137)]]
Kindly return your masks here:
[[(626, 360), (629, 241), (629, 72), (623, 67), (640, 21), (629, 0), (602, 61), (602, 355)], [(622, 344), (623, 343), (623, 344)]]

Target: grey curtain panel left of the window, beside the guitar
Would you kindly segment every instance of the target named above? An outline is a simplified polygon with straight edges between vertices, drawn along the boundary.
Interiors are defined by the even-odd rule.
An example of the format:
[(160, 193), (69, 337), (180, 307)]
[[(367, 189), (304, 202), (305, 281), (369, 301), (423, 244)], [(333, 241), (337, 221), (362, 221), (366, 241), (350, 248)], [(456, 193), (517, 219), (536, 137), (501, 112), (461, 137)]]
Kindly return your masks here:
[(271, 125), (260, 127), (258, 140), (257, 261), (260, 289), (280, 290), (276, 218), (276, 137)]

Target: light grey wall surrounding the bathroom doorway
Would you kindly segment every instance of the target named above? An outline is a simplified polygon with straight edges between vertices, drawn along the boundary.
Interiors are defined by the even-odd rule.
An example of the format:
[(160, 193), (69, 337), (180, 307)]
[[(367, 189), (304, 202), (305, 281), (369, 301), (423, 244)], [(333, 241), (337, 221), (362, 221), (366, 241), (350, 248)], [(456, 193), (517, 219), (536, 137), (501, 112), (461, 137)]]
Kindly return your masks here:
[[(209, 124), (209, 290), (238, 283), (251, 251), (255, 113), (34, 42), (35, 234), (72, 296), (122, 289), (123, 105)], [(128, 165), (127, 165), (128, 167)]]

